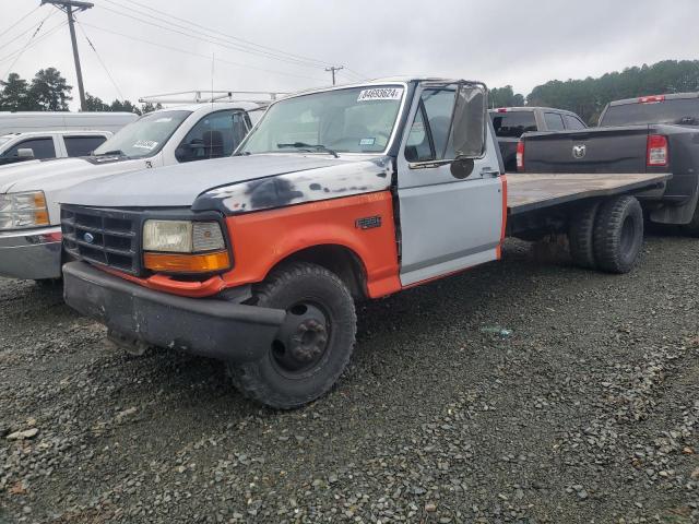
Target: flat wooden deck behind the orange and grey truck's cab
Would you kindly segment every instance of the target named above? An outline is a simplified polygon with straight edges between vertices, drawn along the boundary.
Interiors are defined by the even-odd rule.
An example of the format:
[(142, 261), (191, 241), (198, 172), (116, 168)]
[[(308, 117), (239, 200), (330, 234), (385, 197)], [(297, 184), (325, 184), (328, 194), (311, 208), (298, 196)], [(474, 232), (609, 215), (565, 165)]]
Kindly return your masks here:
[(582, 199), (660, 188), (671, 178), (668, 172), (509, 174), (507, 207), (510, 215), (516, 215)]

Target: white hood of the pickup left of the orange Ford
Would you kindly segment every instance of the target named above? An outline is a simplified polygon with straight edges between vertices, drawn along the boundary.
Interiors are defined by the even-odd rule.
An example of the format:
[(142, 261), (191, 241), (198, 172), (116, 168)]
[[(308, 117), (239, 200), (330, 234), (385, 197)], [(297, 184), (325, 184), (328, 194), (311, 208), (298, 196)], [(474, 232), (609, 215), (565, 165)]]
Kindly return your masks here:
[(44, 162), (22, 163), (0, 169), (0, 193), (44, 191), (51, 225), (60, 222), (58, 194), (85, 180), (106, 177), (116, 172), (133, 171), (144, 167), (143, 159), (125, 160), (109, 157), (102, 162), (85, 158), (57, 158)]

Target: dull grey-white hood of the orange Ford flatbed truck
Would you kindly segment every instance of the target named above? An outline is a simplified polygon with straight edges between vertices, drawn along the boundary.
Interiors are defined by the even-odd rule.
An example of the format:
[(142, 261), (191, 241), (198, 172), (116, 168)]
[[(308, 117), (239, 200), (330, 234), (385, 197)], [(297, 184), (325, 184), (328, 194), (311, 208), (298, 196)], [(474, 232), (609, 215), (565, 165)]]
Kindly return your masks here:
[(364, 166), (370, 160), (366, 156), (334, 158), (294, 153), (232, 156), (93, 180), (61, 192), (58, 199), (63, 204), (104, 207), (189, 207), (197, 196), (212, 189), (311, 170), (332, 179), (333, 174), (346, 172), (352, 165)]

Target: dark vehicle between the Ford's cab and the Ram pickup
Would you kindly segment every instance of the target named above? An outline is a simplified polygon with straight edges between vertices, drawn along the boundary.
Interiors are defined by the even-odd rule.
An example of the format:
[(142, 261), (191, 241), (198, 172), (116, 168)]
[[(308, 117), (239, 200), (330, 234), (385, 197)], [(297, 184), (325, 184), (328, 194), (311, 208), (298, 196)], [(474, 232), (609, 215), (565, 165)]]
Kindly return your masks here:
[(528, 131), (579, 131), (587, 126), (574, 112), (552, 107), (500, 107), (490, 109), (505, 170), (517, 170), (517, 143)]

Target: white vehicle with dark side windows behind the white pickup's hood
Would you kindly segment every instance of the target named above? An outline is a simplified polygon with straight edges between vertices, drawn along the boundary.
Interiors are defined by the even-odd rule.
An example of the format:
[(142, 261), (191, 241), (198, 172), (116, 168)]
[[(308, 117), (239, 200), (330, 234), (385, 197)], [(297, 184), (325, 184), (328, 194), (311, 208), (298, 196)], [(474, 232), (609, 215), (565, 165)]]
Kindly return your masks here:
[(0, 135), (0, 167), (17, 162), (87, 156), (111, 135), (109, 131), (35, 131)]

